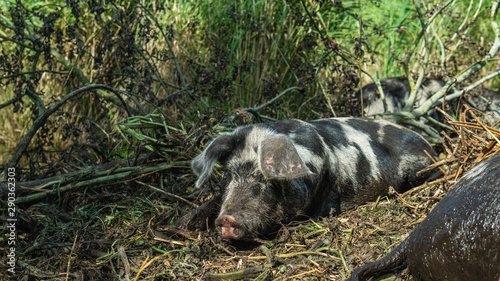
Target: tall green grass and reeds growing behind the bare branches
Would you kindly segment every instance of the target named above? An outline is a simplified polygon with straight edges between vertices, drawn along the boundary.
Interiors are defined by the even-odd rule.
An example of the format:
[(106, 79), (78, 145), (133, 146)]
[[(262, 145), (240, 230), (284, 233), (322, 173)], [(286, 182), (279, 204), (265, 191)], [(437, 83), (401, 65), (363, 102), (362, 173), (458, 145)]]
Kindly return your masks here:
[[(68, 28), (75, 24), (76, 18), (72, 9), (65, 5), (66, 2), (25, 2), (25, 7), (30, 11), (57, 14), (55, 27), (61, 29), (63, 38), (69, 39)], [(368, 76), (360, 73), (358, 67), (375, 76), (372, 51), (381, 78), (405, 75), (402, 60), (412, 51), (408, 69), (411, 75), (418, 74), (423, 57), (423, 40), (416, 42), (416, 39), (422, 27), (412, 1), (342, 1), (341, 6), (330, 2), (304, 3), (305, 8), (301, 1), (288, 3), (284, 0), (146, 1), (144, 6), (137, 3), (133, 4), (136, 6), (131, 6), (131, 2), (118, 1), (114, 5), (105, 4), (104, 13), (99, 17), (102, 21), (97, 21), (95, 12), (87, 3), (82, 2), (78, 4), (80, 12), (84, 14), (80, 18), (83, 23), (79, 26), (84, 32), (76, 35), (81, 44), (73, 39), (64, 41), (61, 45), (65, 51), (82, 48), (82, 52), (72, 58), (67, 54), (63, 57), (80, 69), (92, 83), (105, 83), (120, 90), (125, 90), (127, 83), (135, 83), (134, 87), (126, 89), (133, 95), (142, 94), (144, 87), (137, 83), (146, 81), (146, 75), (151, 75), (151, 81), (146, 81), (152, 91), (151, 95), (146, 96), (147, 101), (135, 98), (142, 103), (141, 107), (145, 111), (141, 115), (163, 114), (167, 122), (176, 124), (191, 123), (198, 119), (199, 113), (221, 122), (235, 109), (263, 104), (293, 86), (303, 87), (303, 90), (286, 94), (261, 113), (276, 119), (332, 116), (334, 113), (331, 105), (356, 89), (354, 84), (346, 83), (354, 79), (352, 75), (358, 76), (357, 79), (363, 84), (371, 82)], [(479, 2), (473, 1), (466, 17), (469, 4), (466, 0), (453, 2), (432, 24), (447, 47), (446, 66), (452, 77), (478, 60), (493, 38), (487, 4), (483, 3), (477, 12)], [(0, 3), (3, 21), (9, 25), (12, 20), (7, 6), (13, 5), (13, 1)], [(428, 12), (424, 19), (428, 21), (432, 12), (437, 10), (437, 5), (432, 2), (420, 5), (423, 13)], [(159, 9), (160, 7), (164, 8)], [(145, 17), (136, 18), (138, 15)], [(153, 26), (151, 32), (156, 32), (157, 37), (148, 39), (142, 36), (141, 25), (146, 20)], [(461, 30), (463, 38), (454, 36), (464, 22)], [(40, 17), (27, 16), (26, 30), (30, 33), (36, 32), (42, 25)], [(96, 68), (97, 62), (93, 56), (99, 46), (109, 40), (106, 39), (107, 34), (111, 34), (112, 40), (118, 40), (124, 36), (120, 32), (125, 29), (134, 34), (135, 42), (143, 52), (142, 55), (138, 53), (133, 57), (135, 61), (132, 67), (136, 68), (139, 75), (117, 75), (106, 80), (105, 73), (108, 70), (123, 73), (129, 67), (129, 57), (120, 57), (118, 43), (104, 50), (102, 66)], [(0, 28), (0, 34), (9, 37), (13, 32)], [(165, 34), (170, 35), (165, 38)], [(444, 72), (440, 67), (439, 44), (432, 32), (428, 35), (431, 49), (428, 51), (430, 62), (426, 76), (442, 77)], [(353, 64), (350, 65), (333, 52), (332, 46), (325, 44), (323, 38), (335, 39), (338, 48), (336, 52)], [(373, 50), (366, 47), (366, 40)], [(55, 43), (51, 43), (53, 48), (56, 47)], [(3, 41), (1, 50), (9, 53), (15, 47), (16, 43)], [(166, 56), (162, 59), (155, 54)], [(47, 70), (47, 61), (43, 55), (36, 65), (31, 64), (33, 62), (30, 55), (33, 55), (33, 51), (26, 51), (21, 56), (23, 71), (32, 68)], [(77, 88), (83, 83), (81, 79), (60, 74), (73, 73), (73, 69), (68, 69), (59, 61), (52, 61), (52, 64), (52, 72), (44, 72), (36, 87), (38, 92), (45, 93), (42, 99), (46, 104), (67, 94), (68, 88)], [(481, 75), (495, 69), (496, 64), (496, 61), (492, 61)], [(153, 69), (152, 73), (141, 72), (148, 66)], [(186, 89), (182, 89), (184, 85), (180, 80), (185, 81)], [(491, 85), (498, 86), (499, 83), (496, 78)], [(13, 82), (1, 87), (0, 102), (13, 97), (13, 89)], [(176, 94), (179, 89), (180, 94)], [(99, 95), (113, 96), (103, 92)], [(156, 105), (155, 98), (161, 100), (171, 95), (176, 95), (174, 101), (163, 103), (159, 107)], [(124, 99), (132, 107), (139, 108), (138, 103), (130, 96), (124, 96)], [(22, 132), (31, 124), (32, 112), (28, 108), (32, 103), (27, 97), (23, 101), (24, 110), (21, 112), (12, 114), (12, 107), (0, 110), (0, 121), (5, 124), (0, 129), (0, 151), (7, 154), (13, 152)], [(100, 108), (98, 105), (101, 102), (96, 95), (84, 95), (68, 103), (63, 110), (69, 113), (68, 116), (73, 116), (69, 120), (72, 124), (94, 122), (107, 137), (118, 135), (123, 138), (125, 135), (117, 131), (116, 125), (125, 117), (124, 114), (114, 105), (109, 105), (106, 109)], [(149, 137), (157, 139), (155, 132), (143, 133), (152, 133)], [(60, 131), (53, 131), (53, 134), (53, 141), (60, 144), (54, 145), (55, 147), (68, 145), (57, 136)], [(82, 138), (88, 134), (81, 136), (80, 141), (83, 141)], [(121, 141), (127, 142), (125, 138)], [(122, 152), (118, 154), (121, 155)], [(1, 157), (0, 163), (5, 163), (8, 159), (8, 156)]]

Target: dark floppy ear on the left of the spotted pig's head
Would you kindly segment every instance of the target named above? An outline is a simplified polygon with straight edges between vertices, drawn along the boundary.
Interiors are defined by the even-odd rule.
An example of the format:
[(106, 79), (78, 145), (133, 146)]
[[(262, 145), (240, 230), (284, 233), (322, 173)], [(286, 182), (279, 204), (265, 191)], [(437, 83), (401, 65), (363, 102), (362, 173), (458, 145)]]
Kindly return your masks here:
[(198, 176), (196, 187), (202, 186), (212, 175), (217, 162), (224, 160), (234, 149), (231, 135), (222, 135), (210, 143), (205, 150), (191, 162), (191, 168)]

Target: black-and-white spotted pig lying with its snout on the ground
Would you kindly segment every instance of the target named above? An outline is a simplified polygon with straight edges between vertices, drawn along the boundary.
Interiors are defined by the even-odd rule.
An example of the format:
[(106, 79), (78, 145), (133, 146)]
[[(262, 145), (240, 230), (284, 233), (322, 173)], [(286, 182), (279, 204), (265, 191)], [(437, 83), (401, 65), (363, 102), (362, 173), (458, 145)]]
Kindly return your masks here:
[(251, 239), (297, 216), (325, 216), (422, 183), (431, 163), (420, 135), (384, 120), (331, 118), (253, 124), (221, 135), (192, 161), (202, 186), (220, 163), (228, 179), (215, 224)]

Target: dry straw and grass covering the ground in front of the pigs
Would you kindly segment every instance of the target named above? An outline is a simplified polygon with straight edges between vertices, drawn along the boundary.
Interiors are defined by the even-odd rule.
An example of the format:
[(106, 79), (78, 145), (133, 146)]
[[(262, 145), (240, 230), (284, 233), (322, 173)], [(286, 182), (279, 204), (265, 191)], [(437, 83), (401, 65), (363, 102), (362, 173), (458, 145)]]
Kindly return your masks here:
[[(123, 182), (61, 194), (53, 198), (58, 205), (20, 210), (19, 266), (30, 280), (343, 280), (399, 244), (474, 163), (499, 153), (493, 137), (499, 132), (482, 118), (464, 118), (450, 122), (457, 136), (446, 137), (441, 159), (431, 167), (439, 166), (444, 178), (338, 216), (291, 223), (273, 240), (231, 243), (213, 230), (172, 232), (168, 225), (192, 207)], [(145, 180), (164, 182), (168, 191), (192, 185), (194, 176), (178, 167)], [(412, 279), (403, 271), (396, 280)]]

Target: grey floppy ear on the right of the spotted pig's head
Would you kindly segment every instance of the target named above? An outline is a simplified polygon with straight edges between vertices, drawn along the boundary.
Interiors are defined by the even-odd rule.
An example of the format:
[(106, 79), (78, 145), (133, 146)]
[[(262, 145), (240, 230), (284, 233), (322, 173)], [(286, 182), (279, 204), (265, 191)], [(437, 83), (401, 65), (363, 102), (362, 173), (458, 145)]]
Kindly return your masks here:
[(268, 136), (259, 146), (259, 166), (268, 179), (294, 179), (312, 174), (286, 136)]

